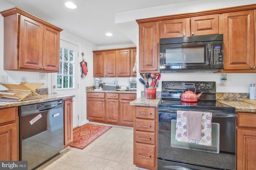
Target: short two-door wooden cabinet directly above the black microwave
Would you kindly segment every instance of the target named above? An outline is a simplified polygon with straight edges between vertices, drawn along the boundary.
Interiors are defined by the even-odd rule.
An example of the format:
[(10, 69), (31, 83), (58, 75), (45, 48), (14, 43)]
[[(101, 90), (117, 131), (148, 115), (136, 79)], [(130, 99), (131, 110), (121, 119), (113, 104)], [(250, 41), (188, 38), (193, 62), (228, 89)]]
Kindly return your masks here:
[(161, 22), (161, 38), (186, 37), (218, 33), (218, 14), (164, 20)]

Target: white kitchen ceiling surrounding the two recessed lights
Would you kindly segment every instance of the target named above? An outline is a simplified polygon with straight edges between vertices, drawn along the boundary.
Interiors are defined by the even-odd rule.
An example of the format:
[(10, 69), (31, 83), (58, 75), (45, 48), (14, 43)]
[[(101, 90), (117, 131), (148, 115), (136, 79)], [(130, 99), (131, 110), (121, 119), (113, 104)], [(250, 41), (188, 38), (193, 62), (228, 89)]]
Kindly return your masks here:
[[(4, 0), (97, 46), (136, 44), (115, 23), (115, 14), (192, 0)], [(74, 10), (65, 2), (74, 2)], [(137, 26), (137, 25), (136, 25)], [(111, 32), (112, 37), (105, 34)]]

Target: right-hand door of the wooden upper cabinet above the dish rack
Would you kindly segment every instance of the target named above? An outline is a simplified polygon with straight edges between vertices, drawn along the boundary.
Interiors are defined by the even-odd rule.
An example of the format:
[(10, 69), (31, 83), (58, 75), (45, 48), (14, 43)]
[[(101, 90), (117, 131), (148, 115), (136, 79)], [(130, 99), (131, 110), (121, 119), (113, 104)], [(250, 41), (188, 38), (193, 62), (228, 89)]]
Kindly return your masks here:
[(60, 71), (60, 32), (44, 25), (43, 69)]

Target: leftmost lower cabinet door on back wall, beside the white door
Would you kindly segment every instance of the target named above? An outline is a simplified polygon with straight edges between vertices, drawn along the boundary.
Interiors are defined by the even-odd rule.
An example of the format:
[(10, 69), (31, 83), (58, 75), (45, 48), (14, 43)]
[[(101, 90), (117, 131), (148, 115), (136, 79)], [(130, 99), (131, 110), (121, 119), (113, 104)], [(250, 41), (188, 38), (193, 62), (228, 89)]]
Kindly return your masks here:
[(105, 99), (87, 98), (87, 119), (105, 121)]

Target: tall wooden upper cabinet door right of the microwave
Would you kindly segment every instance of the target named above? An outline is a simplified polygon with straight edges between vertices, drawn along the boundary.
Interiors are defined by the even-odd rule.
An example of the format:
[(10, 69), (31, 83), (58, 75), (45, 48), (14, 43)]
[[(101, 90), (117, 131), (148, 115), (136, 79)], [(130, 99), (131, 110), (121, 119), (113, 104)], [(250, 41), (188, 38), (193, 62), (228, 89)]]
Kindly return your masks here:
[(254, 11), (225, 13), (223, 20), (224, 70), (254, 69)]

